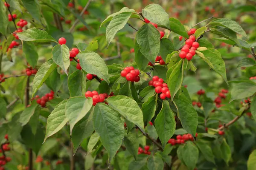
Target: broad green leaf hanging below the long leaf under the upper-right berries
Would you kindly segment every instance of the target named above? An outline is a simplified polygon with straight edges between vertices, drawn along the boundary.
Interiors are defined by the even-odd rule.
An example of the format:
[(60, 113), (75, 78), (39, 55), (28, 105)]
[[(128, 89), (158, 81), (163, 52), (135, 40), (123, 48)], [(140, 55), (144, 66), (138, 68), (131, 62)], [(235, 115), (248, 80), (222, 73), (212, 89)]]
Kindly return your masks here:
[(198, 114), (192, 106), (191, 101), (186, 98), (184, 94), (174, 99), (175, 106), (178, 111), (178, 118), (180, 119), (182, 127), (190, 134), (195, 136), (198, 126)]

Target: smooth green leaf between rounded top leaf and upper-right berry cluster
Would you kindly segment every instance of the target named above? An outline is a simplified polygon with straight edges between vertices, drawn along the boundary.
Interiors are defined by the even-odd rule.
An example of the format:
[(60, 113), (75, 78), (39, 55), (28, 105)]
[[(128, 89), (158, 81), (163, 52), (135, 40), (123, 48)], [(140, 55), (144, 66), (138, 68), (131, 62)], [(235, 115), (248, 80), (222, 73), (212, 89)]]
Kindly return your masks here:
[(182, 25), (182, 23), (180, 23), (179, 20), (171, 17), (171, 18), (169, 18), (169, 21), (170, 21), (171, 31), (175, 32), (176, 34), (181, 35), (182, 37), (189, 38), (185, 27)]

